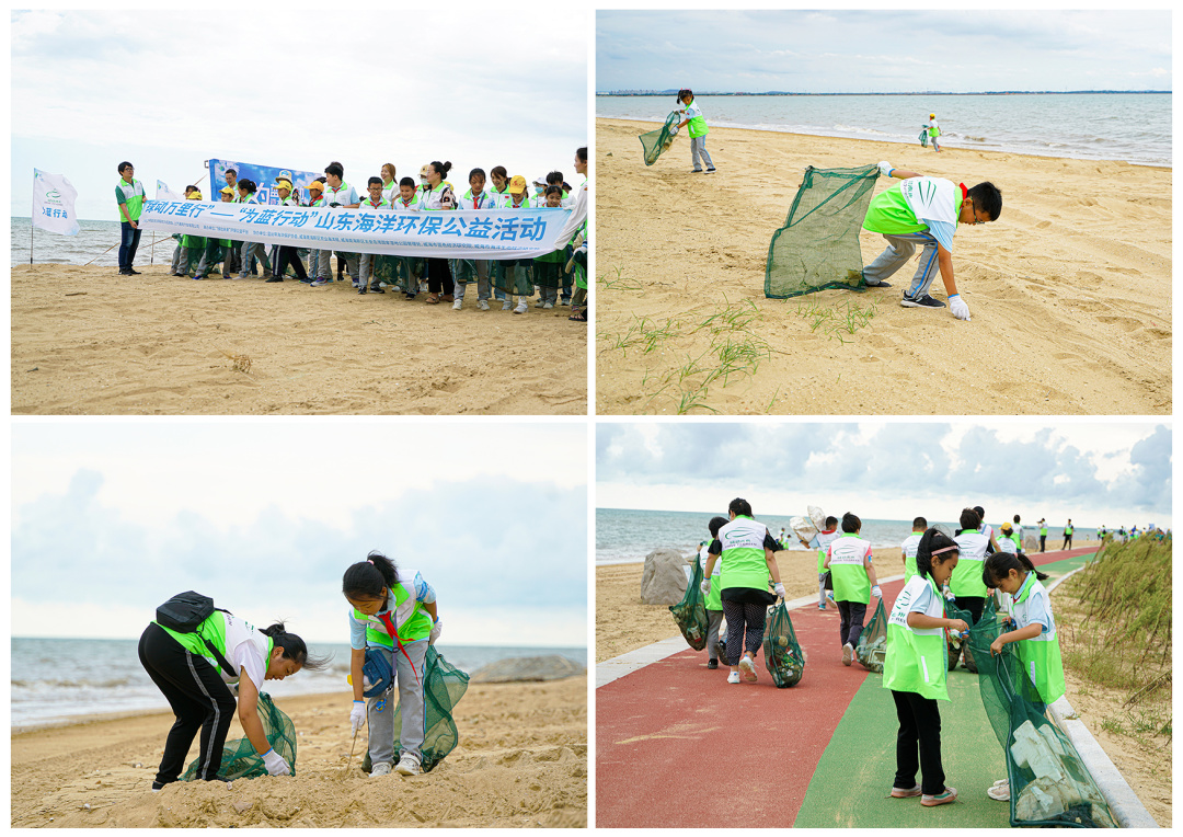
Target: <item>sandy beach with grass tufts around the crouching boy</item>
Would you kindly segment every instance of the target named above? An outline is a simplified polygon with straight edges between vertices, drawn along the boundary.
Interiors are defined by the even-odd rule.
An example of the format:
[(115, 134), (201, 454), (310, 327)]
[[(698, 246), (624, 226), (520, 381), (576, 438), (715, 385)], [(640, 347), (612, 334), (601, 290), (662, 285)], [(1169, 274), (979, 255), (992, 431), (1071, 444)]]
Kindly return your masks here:
[[(685, 136), (646, 167), (655, 127), (596, 121), (597, 413), (1171, 414), (1170, 169), (711, 128), (705, 175)], [(764, 297), (806, 167), (880, 160), (1002, 189), (955, 239), (971, 322), (899, 305), (914, 262), (888, 289)], [(864, 264), (885, 246), (860, 243)]]

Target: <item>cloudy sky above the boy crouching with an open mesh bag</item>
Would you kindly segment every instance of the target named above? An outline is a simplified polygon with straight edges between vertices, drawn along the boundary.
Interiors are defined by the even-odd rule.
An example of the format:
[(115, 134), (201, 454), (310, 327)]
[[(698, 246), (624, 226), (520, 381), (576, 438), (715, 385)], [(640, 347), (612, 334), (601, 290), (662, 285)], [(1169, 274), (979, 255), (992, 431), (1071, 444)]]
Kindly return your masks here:
[(595, 89), (1170, 90), (1169, 12), (596, 14)]

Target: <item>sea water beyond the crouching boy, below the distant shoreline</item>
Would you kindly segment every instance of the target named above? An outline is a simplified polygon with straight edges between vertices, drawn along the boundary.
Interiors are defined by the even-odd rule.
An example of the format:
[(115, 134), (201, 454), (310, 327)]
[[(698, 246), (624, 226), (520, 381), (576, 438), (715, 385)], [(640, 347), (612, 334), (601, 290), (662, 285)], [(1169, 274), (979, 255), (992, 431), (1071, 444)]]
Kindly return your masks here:
[[(1171, 165), (1170, 94), (697, 96), (694, 103), (709, 127), (903, 142), (913, 146), (910, 159), (935, 153), (918, 136), (936, 114), (942, 148)], [(596, 96), (597, 117), (664, 122), (677, 107), (673, 94)], [(878, 161), (851, 165), (871, 162)]]

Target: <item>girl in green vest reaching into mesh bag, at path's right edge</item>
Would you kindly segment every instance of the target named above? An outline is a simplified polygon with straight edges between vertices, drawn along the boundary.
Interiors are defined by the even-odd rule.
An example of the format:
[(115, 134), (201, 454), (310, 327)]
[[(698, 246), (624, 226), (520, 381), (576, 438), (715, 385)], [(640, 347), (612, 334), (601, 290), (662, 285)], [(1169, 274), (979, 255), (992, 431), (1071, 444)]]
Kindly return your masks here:
[[(1064, 696), (1064, 664), (1060, 662), (1060, 640), (1055, 633), (1052, 601), (1040, 584), (1046, 573), (1035, 569), (1027, 555), (995, 553), (985, 559), (983, 580), (1010, 597), (1014, 630), (1002, 633), (990, 643), (990, 653), (1002, 653), (1003, 646), (1016, 643), (1015, 651), (1030, 691), (1024, 695), (1036, 712), (1045, 712), (1048, 703)], [(1010, 799), (1010, 786), (1000, 780), (987, 791), (991, 799)]]

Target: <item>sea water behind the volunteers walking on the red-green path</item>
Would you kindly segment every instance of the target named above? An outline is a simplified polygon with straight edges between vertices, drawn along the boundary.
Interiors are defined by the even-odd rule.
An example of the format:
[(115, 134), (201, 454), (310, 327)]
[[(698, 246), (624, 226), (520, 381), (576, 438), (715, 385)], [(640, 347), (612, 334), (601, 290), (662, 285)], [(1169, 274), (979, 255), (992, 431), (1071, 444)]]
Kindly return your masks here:
[[(718, 513), (716, 513), (718, 514)], [(804, 509), (799, 513), (804, 516)], [(710, 540), (706, 524), (715, 515), (709, 511), (635, 511), (629, 509), (596, 509), (595, 511), (595, 562), (634, 564), (644, 561), (645, 556), (658, 547), (677, 549), (684, 555), (698, 551), (700, 541)], [(723, 515), (726, 516), (726, 515)], [(789, 527), (790, 516), (796, 515), (756, 515), (774, 537), (780, 536), (784, 527), (789, 536), (789, 548), (804, 551), (801, 542), (793, 536)], [(838, 516), (838, 515), (835, 515)], [(1002, 521), (987, 520), (997, 529)], [(940, 524), (950, 533), (959, 527), (956, 521), (929, 521), (930, 526)], [(871, 542), (875, 554), (899, 556), (900, 543), (912, 534), (911, 520), (871, 520), (862, 519), (861, 537)], [(1032, 526), (1023, 527), (1023, 535), (1039, 534)], [(1073, 541), (1082, 542), (1095, 537), (1095, 529), (1073, 529)], [(995, 533), (997, 537), (997, 533)], [(1058, 549), (1064, 545), (1064, 529), (1048, 527), (1047, 545)]]

